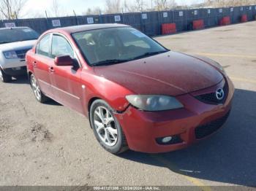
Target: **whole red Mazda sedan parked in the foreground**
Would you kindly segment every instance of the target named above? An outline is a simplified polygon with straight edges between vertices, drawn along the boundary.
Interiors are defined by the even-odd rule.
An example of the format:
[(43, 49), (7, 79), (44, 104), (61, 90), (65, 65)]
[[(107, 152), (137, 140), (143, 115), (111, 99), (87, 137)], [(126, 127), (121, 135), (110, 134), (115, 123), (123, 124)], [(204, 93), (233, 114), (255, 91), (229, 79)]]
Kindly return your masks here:
[(187, 147), (230, 114), (234, 87), (222, 66), (167, 50), (130, 26), (46, 31), (26, 62), (37, 101), (52, 98), (89, 117), (114, 154)]

